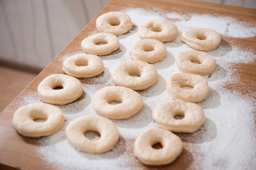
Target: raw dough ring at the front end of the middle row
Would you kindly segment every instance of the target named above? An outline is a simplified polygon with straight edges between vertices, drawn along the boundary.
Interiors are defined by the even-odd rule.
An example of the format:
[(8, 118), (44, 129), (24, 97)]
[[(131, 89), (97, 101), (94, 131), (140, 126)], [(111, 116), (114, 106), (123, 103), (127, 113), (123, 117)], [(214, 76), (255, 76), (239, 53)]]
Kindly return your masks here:
[[(85, 137), (88, 131), (99, 132), (99, 140)], [(116, 125), (99, 115), (84, 115), (69, 123), (66, 128), (67, 140), (71, 145), (89, 154), (101, 154), (112, 149), (119, 139)]]

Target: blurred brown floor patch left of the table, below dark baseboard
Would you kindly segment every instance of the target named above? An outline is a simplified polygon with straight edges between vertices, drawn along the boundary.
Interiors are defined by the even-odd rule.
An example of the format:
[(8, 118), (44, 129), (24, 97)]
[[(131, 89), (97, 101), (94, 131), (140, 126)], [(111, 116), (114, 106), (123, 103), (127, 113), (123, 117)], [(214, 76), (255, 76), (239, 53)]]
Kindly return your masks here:
[(36, 74), (0, 67), (0, 113), (35, 77)]

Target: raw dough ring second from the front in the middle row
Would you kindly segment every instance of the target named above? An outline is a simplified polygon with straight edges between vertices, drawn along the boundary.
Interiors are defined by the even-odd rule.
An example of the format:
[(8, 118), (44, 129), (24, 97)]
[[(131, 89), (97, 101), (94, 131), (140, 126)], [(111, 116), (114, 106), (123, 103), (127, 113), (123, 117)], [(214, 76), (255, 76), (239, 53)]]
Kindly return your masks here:
[[(111, 102), (118, 102), (111, 104)], [(96, 92), (92, 106), (99, 115), (111, 119), (128, 119), (143, 108), (143, 98), (123, 86), (106, 86)]]

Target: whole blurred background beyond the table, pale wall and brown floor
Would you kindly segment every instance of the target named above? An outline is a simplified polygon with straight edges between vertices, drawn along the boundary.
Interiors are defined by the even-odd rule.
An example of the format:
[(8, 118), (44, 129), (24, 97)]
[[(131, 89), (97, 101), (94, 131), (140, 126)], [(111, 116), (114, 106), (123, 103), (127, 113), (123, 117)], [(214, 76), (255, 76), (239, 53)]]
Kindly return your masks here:
[[(108, 1), (0, 0), (0, 112)], [(256, 0), (201, 1), (256, 8)]]

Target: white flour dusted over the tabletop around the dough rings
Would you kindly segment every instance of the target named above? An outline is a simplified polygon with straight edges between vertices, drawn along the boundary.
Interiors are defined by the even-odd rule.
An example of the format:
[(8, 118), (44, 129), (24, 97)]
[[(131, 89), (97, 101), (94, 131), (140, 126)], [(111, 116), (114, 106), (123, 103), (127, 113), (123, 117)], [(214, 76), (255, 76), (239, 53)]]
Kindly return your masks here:
[[(165, 90), (165, 85), (171, 74), (179, 72), (175, 65), (175, 58), (179, 52), (191, 50), (182, 42), (182, 32), (188, 28), (212, 28), (217, 30), (222, 38), (228, 38), (228, 40), (252, 38), (256, 35), (255, 25), (236, 21), (230, 17), (157, 13), (145, 11), (143, 8), (127, 8), (123, 12), (126, 12), (133, 21), (133, 29), (126, 35), (118, 37), (120, 48), (116, 52), (101, 57), (105, 65), (103, 73), (91, 79), (80, 79), (84, 85), (84, 94), (79, 100), (66, 106), (58, 106), (67, 120), (62, 129), (50, 137), (42, 138), (42, 147), (38, 149), (38, 155), (55, 169), (157, 169), (157, 166), (144, 166), (133, 157), (133, 141), (143, 131), (157, 128), (152, 120), (152, 110), (158, 103), (172, 100)], [(137, 35), (138, 26), (152, 18), (167, 18), (174, 22), (179, 28), (179, 35), (174, 42), (165, 42), (167, 58), (152, 64), (159, 73), (157, 82), (149, 89), (138, 91), (143, 96), (142, 111), (128, 120), (113, 120), (121, 137), (111, 151), (105, 154), (79, 152), (67, 142), (65, 128), (75, 118), (96, 114), (91, 106), (91, 98), (104, 86), (114, 85), (111, 80), (113, 67), (118, 62), (131, 60), (131, 48), (140, 40)], [(78, 52), (70, 51), (63, 56), (63, 60)], [(248, 95), (239, 90), (226, 89), (226, 86), (241, 83), (240, 74), (233, 69), (233, 64), (255, 62), (256, 54), (250, 49), (243, 49), (242, 46), (226, 40), (221, 40), (221, 45), (208, 54), (216, 58), (217, 67), (213, 74), (204, 76), (208, 79), (210, 91), (208, 98), (199, 103), (199, 106), (204, 108), (206, 121), (198, 132), (177, 134), (184, 142), (184, 150), (176, 161), (163, 167), (169, 169), (173, 164), (180, 164), (176, 167), (180, 169), (256, 169), (254, 131), (256, 86), (245, 91)], [(42, 101), (37, 94), (29, 94), (21, 98), (20, 105), (34, 102)]]

